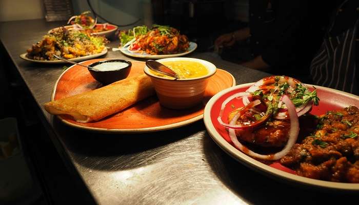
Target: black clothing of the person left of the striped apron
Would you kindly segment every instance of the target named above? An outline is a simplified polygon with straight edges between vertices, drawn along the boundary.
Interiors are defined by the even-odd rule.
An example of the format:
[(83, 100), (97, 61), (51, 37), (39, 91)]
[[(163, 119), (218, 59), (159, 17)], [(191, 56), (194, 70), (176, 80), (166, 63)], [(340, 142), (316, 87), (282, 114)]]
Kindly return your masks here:
[(273, 74), (308, 83), (310, 61), (320, 47), (328, 16), (320, 2), (249, 0), (253, 57), (262, 55)]

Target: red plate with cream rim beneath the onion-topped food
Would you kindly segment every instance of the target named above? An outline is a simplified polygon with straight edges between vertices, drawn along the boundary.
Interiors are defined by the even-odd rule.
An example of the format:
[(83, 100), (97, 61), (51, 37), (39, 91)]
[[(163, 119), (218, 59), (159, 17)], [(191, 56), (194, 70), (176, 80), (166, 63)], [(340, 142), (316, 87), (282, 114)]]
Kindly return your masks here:
[[(216, 142), (218, 146), (220, 146), (231, 157), (243, 163), (245, 166), (255, 171), (259, 171), (260, 173), (267, 176), (271, 176), (282, 181), (284, 179), (285, 181), (293, 183), (294, 185), (319, 188), (321, 190), (325, 189), (332, 191), (359, 191), (359, 183), (331, 182), (290, 174), (288, 172), (275, 169), (266, 165), (265, 163), (257, 161), (256, 159), (253, 159), (252, 157), (244, 154), (240, 150), (237, 150), (235, 147), (233, 147), (221, 135), (221, 133), (223, 135), (228, 135), (228, 132), (223, 127), (221, 127), (219, 123), (217, 123), (216, 118), (218, 117), (218, 113), (221, 109), (220, 107), (225, 98), (229, 97), (229, 95), (232, 95), (235, 92), (245, 91), (251, 85), (253, 85), (253, 83), (228, 88), (226, 90), (218, 92), (208, 101), (204, 112), (204, 122), (209, 135), (212, 137), (212, 139), (214, 140), (214, 142)], [(312, 85), (308, 86), (311, 87)], [(348, 107), (349, 105), (359, 106), (359, 97), (356, 95), (321, 86), (315, 86), (315, 88), (317, 89), (317, 95), (321, 99), (322, 105), (320, 103), (319, 106), (313, 107), (311, 112), (313, 114), (323, 114), (323, 112), (326, 112), (325, 110), (332, 110), (333, 108), (344, 108)], [(335, 98), (333, 98), (333, 96), (335, 96)], [(242, 101), (242, 99), (240, 99), (240, 101)], [(213, 116), (211, 116), (211, 113), (213, 113)]]

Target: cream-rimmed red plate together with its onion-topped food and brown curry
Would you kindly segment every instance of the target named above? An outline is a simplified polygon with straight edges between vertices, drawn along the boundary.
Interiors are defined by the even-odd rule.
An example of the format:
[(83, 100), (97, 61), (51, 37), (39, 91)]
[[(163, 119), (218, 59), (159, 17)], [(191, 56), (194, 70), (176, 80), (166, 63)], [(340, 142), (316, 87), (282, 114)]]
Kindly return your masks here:
[[(296, 83), (289, 84), (296, 87)], [(262, 80), (217, 93), (204, 112), (212, 139), (234, 159), (267, 176), (328, 191), (359, 191), (359, 97), (320, 86), (314, 89), (312, 85), (289, 88), (284, 95), (291, 97), (277, 97), (278, 92), (288, 88), (282, 85), (263, 85)], [(303, 91), (302, 100), (293, 97), (298, 91)], [(303, 101), (309, 95), (312, 99)], [(317, 106), (314, 95), (320, 99)], [(292, 101), (292, 105), (303, 106), (279, 106), (279, 114), (268, 119), (268, 107), (263, 104), (273, 99), (282, 105)], [(292, 123), (295, 117), (292, 119), (291, 113), (296, 113), (292, 117), (300, 116), (297, 122)], [(293, 134), (298, 138), (290, 142)]]

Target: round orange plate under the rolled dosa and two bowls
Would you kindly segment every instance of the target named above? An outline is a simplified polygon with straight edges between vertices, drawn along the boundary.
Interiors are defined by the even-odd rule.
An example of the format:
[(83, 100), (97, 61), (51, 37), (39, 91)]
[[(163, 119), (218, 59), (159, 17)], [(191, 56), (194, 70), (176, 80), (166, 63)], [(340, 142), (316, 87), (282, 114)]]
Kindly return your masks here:
[[(99, 60), (92, 59), (82, 64), (90, 65)], [(144, 73), (145, 62), (131, 61), (132, 68), (129, 77)], [(217, 69), (208, 83), (203, 104), (188, 110), (171, 110), (162, 107), (156, 96), (139, 101), (122, 112), (110, 115), (96, 122), (76, 122), (71, 116), (61, 115), (59, 118), (75, 128), (117, 133), (141, 133), (159, 130), (168, 130), (188, 125), (203, 118), (203, 112), (208, 100), (216, 93), (235, 86), (234, 77), (227, 71)], [(68, 68), (57, 80), (51, 100), (68, 97), (101, 87), (88, 72), (87, 68), (73, 65)]]

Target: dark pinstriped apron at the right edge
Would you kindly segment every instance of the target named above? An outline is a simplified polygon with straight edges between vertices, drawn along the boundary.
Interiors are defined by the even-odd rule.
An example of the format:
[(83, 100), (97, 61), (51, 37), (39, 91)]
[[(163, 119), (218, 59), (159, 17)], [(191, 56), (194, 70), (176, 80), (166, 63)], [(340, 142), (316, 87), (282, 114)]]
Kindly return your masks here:
[(346, 0), (334, 11), (310, 71), (315, 85), (359, 94), (359, 2)]

